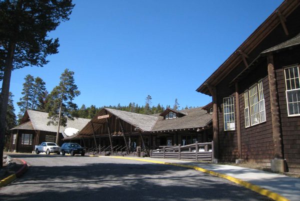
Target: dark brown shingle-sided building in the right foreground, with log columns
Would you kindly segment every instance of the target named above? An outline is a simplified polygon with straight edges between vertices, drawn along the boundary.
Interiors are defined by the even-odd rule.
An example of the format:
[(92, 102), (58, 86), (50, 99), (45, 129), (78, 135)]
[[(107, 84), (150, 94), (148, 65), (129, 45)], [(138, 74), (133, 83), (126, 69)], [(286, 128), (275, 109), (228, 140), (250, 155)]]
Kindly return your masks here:
[(300, 172), (299, 65), (300, 1), (284, 0), (196, 89), (212, 96), (215, 162)]

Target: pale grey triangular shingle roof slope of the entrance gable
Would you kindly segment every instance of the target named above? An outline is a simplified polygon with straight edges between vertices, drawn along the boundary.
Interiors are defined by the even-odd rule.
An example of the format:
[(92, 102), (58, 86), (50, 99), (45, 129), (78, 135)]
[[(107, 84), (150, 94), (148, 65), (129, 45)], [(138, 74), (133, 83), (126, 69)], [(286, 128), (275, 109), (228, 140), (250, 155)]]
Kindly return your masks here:
[(132, 112), (126, 112), (121, 110), (104, 108), (111, 114), (119, 117), (123, 121), (135, 126), (136, 128), (140, 128), (143, 131), (151, 131), (158, 117), (153, 117), (149, 115), (137, 114)]

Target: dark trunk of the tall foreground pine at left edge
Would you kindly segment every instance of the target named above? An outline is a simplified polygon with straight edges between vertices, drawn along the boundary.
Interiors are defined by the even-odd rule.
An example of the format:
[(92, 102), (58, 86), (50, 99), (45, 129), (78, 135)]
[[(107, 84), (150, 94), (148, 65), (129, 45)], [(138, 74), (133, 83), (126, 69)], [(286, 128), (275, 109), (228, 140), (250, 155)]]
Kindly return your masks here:
[(4, 147), (4, 136), (5, 136), (5, 121), (6, 121), (6, 113), (7, 113), (7, 105), (8, 105), (8, 97), (9, 97), (9, 84), (10, 77), (12, 71), (12, 61), (13, 61), (13, 53), (14, 53), (13, 42), (9, 42), (8, 51), (7, 51), (7, 59), (6, 65), (3, 73), (2, 80), (2, 90), (1, 90), (1, 99), (0, 99), (0, 168), (3, 166), (2, 157), (3, 157), (3, 147)]

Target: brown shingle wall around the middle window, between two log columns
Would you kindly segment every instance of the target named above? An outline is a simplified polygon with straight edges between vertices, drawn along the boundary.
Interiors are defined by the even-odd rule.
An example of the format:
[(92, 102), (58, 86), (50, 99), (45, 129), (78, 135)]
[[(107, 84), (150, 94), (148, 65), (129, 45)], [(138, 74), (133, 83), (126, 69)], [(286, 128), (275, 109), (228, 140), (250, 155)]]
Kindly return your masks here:
[[(242, 159), (269, 167), (273, 158), (273, 138), (266, 61), (260, 63), (258, 69), (248, 77), (247, 81), (240, 84), (242, 87), (239, 94)], [(244, 91), (260, 79), (262, 79), (266, 121), (245, 128)]]

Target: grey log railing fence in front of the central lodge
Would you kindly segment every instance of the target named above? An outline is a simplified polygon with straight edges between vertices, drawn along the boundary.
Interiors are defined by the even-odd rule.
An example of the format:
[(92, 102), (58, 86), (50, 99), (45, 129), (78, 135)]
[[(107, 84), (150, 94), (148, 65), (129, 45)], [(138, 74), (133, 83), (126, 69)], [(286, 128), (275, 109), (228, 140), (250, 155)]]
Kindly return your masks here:
[(207, 143), (196, 142), (195, 144), (185, 146), (163, 146), (162, 149), (150, 150), (150, 157), (191, 161), (211, 161), (213, 158), (213, 141)]

